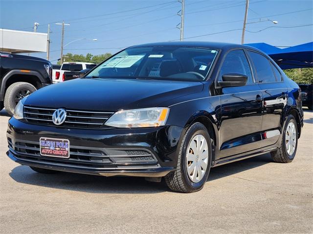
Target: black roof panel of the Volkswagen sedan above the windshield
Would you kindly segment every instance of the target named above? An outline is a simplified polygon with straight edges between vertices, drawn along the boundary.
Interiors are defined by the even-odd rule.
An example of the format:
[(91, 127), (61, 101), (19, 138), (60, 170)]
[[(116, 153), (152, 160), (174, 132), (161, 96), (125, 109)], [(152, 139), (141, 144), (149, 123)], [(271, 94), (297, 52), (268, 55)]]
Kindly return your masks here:
[(141, 45), (134, 45), (131, 47), (145, 47), (145, 46), (189, 46), (189, 47), (202, 47), (210, 49), (232, 49), (232, 48), (248, 48), (255, 51), (258, 49), (234, 43), (225, 43), (225, 42), (209, 42), (209, 41), (166, 41), (166, 42), (155, 42)]

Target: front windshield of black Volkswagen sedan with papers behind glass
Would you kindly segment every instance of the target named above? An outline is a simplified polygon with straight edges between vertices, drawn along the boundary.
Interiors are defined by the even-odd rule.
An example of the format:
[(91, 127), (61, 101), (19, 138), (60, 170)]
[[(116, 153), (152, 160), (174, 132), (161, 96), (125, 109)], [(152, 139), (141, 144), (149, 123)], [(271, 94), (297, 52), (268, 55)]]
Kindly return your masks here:
[(201, 81), (217, 50), (179, 46), (128, 48), (91, 71), (87, 78), (147, 78)]

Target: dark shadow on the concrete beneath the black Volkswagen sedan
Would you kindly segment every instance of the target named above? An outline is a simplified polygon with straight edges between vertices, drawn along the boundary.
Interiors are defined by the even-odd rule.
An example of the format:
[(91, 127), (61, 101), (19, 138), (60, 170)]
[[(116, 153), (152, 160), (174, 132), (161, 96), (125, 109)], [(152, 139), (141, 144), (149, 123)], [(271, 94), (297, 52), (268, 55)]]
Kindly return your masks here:
[[(260, 167), (269, 162), (270, 155), (266, 154), (215, 167), (211, 169), (208, 181)], [(154, 183), (145, 181), (142, 177), (104, 177), (66, 172), (39, 174), (27, 166), (17, 166), (9, 175), (18, 183), (86, 193), (156, 194), (170, 191), (164, 180)]]

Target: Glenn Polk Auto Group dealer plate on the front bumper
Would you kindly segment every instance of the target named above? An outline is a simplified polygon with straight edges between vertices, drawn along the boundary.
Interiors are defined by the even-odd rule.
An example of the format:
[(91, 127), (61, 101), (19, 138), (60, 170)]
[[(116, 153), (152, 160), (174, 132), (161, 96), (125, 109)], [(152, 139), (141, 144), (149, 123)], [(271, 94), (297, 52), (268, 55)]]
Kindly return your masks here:
[(69, 158), (69, 140), (41, 137), (40, 154), (49, 157)]

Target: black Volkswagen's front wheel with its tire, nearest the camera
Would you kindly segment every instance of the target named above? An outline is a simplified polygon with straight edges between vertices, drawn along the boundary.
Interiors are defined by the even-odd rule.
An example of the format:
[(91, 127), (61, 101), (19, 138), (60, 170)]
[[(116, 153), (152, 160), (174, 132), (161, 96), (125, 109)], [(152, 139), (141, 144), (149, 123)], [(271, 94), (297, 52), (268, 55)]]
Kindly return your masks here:
[[(197, 146), (197, 143), (195, 142), (198, 142), (198, 141), (194, 140), (194, 138), (197, 136), (202, 136), (203, 139), (205, 139), (207, 143), (206, 150), (202, 151), (203, 149), (201, 148), (201, 151), (200, 151), (200, 152), (206, 152), (206, 151), (208, 152), (207, 158), (205, 159), (207, 163), (207, 167), (206, 167), (205, 172), (201, 175), (203, 176), (202, 178), (199, 174), (199, 171), (196, 172), (197, 170), (196, 168), (197, 168), (197, 165), (200, 165), (201, 163), (205, 162), (205, 160), (199, 157), (200, 154), (197, 154), (196, 156), (196, 151), (195, 153), (192, 151), (192, 145)], [(201, 143), (200, 143), (201, 147), (205, 146), (203, 142), (204, 140), (202, 141), (202, 138), (201, 138)], [(195, 157), (195, 160), (192, 161), (192, 163), (190, 160), (187, 159), (187, 157), (190, 155)], [(203, 154), (203, 155), (206, 156), (206, 154)], [(212, 160), (212, 148), (211, 148), (211, 138), (209, 136), (209, 133), (203, 124), (199, 122), (194, 123), (187, 130), (186, 134), (184, 135), (180, 143), (179, 153), (178, 153), (178, 163), (177, 163), (176, 170), (173, 172), (170, 172), (168, 175), (164, 177), (167, 186), (171, 190), (176, 191), (176, 192), (181, 192), (181, 193), (193, 193), (193, 192), (201, 190), (209, 175), (210, 168), (211, 168), (211, 160)], [(193, 163), (196, 163), (196, 164), (193, 164)], [(190, 166), (188, 166), (187, 164), (188, 165), (190, 164)], [(195, 169), (194, 171), (192, 171), (192, 175), (190, 176), (190, 173), (188, 173), (187, 167), (192, 168), (192, 165), (196, 165), (196, 166), (194, 166)], [(201, 170), (200, 173), (202, 173), (202, 169), (203, 168), (200, 167), (200, 170)], [(197, 174), (194, 174), (193, 172), (196, 172)], [(192, 178), (191, 178), (192, 176), (194, 176), (194, 181), (192, 181)], [(199, 181), (197, 181), (198, 176), (199, 176)]]

